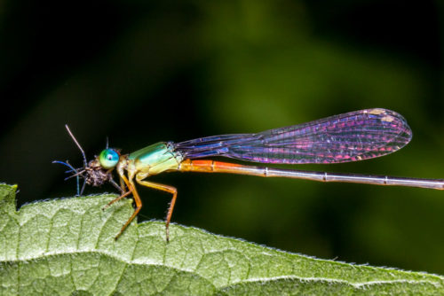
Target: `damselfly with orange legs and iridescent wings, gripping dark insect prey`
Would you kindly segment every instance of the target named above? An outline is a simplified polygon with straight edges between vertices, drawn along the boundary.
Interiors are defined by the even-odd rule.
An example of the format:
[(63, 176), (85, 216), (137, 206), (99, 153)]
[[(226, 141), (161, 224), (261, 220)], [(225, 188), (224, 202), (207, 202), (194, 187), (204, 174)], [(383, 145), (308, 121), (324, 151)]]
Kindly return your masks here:
[[(444, 190), (444, 179), (421, 179), (387, 175), (330, 174), (326, 172), (255, 167), (249, 165), (202, 160), (207, 157), (226, 157), (258, 163), (303, 164), (341, 163), (368, 160), (396, 152), (411, 140), (412, 132), (407, 121), (390, 110), (374, 108), (330, 116), (317, 121), (269, 129), (256, 134), (207, 136), (181, 143), (159, 142), (130, 154), (106, 148), (87, 163), (82, 147), (66, 126), (69, 135), (83, 154), (83, 167), (75, 169), (67, 162), (71, 176), (83, 177), (85, 184), (99, 186), (112, 183), (121, 195), (107, 204), (132, 195), (136, 208), (130, 219), (115, 237), (137, 216), (142, 201), (136, 183), (172, 195), (165, 218), (167, 242), (169, 225), (176, 203), (176, 188), (147, 181), (147, 177), (163, 172), (232, 173), (264, 177), (287, 177), (320, 182), (367, 183)], [(116, 170), (120, 186), (113, 179)], [(78, 188), (78, 186), (77, 186)], [(79, 192), (78, 192), (79, 193)], [(105, 206), (105, 207), (107, 207)]]

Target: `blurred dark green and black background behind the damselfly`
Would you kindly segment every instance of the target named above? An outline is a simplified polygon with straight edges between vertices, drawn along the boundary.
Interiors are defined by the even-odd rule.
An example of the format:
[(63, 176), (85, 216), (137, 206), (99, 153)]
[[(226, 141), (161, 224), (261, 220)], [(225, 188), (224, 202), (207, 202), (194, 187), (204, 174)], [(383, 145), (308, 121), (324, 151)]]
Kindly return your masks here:
[[(370, 107), (414, 131), (377, 160), (295, 166), (444, 177), (439, 1), (0, 3), (0, 181), (20, 205), (70, 196), (92, 158), (161, 140), (257, 132)], [(444, 191), (240, 175), (164, 174), (173, 221), (340, 261), (444, 274)], [(104, 187), (99, 191), (114, 191)], [(87, 194), (98, 192), (88, 189)], [(140, 189), (139, 221), (170, 196)]]

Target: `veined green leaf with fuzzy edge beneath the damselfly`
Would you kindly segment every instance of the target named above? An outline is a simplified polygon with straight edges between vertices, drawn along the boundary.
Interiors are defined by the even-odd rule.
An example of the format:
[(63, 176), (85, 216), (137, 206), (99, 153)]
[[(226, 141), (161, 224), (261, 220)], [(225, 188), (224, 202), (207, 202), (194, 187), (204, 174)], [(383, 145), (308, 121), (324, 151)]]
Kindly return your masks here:
[(133, 222), (115, 195), (36, 202), (15, 210), (0, 185), (0, 294), (427, 294), (444, 277), (285, 253), (163, 222)]

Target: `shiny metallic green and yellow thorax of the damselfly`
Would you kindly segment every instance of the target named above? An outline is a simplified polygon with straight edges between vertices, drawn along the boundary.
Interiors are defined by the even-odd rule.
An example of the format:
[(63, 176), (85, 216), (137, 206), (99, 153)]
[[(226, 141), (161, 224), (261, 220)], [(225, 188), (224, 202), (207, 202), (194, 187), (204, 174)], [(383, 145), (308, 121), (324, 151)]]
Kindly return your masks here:
[(137, 171), (156, 175), (177, 169), (183, 158), (180, 153), (174, 152), (172, 143), (159, 142), (132, 152), (128, 160), (133, 162)]

